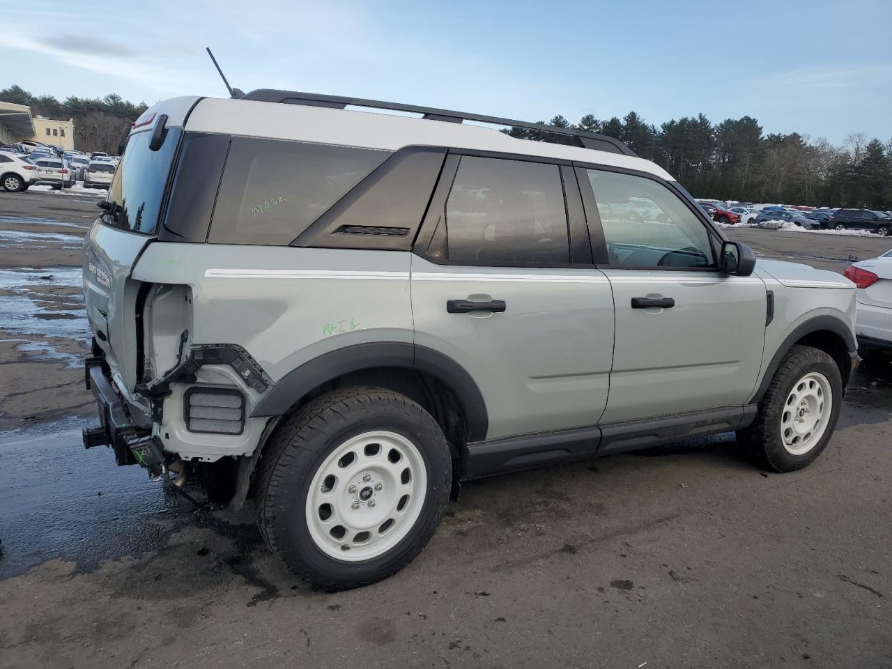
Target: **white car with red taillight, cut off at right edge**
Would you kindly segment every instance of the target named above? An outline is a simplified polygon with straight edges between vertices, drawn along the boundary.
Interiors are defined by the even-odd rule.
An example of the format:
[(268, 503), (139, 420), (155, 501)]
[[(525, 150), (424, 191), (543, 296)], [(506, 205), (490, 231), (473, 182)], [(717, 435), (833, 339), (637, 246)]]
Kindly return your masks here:
[(892, 357), (892, 251), (856, 262), (845, 274), (858, 289), (858, 352), (865, 360), (888, 362)]

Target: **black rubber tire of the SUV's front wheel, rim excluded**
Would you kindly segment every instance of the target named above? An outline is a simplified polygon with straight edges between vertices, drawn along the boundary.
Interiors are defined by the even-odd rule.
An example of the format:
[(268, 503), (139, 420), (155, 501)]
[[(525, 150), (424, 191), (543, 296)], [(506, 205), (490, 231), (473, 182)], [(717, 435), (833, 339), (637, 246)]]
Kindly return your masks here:
[[(810, 372), (822, 374), (830, 382), (832, 400), (830, 416), (821, 439), (805, 453), (795, 455), (783, 444), (780, 434), (781, 419), (790, 392), (803, 376)], [(737, 433), (738, 442), (748, 447), (756, 464), (774, 472), (792, 472), (811, 464), (830, 442), (839, 418), (842, 403), (842, 376), (839, 368), (824, 351), (811, 346), (793, 346), (774, 373), (771, 384), (759, 402), (758, 414), (752, 425)]]

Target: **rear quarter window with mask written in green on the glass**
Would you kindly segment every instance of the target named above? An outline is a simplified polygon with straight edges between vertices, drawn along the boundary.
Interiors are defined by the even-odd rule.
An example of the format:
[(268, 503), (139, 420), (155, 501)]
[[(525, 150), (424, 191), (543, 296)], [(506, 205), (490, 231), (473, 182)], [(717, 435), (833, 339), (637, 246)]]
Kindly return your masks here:
[(233, 137), (208, 241), (290, 244), (389, 155), (351, 146)]

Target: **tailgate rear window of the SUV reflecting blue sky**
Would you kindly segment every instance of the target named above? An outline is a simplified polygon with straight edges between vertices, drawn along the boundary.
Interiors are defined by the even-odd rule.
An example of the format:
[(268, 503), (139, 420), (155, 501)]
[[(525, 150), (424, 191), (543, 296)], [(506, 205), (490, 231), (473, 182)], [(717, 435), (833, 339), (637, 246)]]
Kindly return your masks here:
[(178, 128), (169, 128), (158, 151), (149, 149), (151, 132), (130, 136), (120, 169), (109, 186), (109, 200), (117, 202), (120, 211), (113, 220), (103, 216), (104, 222), (134, 232), (154, 233), (179, 136)]

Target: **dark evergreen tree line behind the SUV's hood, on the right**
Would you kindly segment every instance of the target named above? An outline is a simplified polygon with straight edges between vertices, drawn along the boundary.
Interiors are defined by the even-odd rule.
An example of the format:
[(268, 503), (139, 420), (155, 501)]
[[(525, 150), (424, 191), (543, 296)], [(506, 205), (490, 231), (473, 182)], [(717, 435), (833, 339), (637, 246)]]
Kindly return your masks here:
[[(698, 197), (892, 210), (892, 138), (884, 144), (857, 133), (834, 146), (795, 132), (765, 135), (751, 116), (713, 124), (702, 113), (666, 121), (659, 128), (635, 111), (623, 119), (599, 120), (587, 114), (571, 124), (558, 115), (547, 124), (539, 122), (615, 137)], [(569, 136), (539, 130), (504, 132), (574, 144)]]

